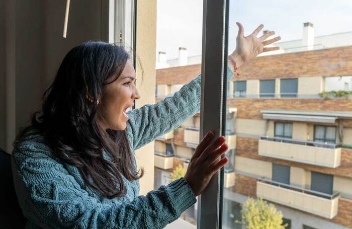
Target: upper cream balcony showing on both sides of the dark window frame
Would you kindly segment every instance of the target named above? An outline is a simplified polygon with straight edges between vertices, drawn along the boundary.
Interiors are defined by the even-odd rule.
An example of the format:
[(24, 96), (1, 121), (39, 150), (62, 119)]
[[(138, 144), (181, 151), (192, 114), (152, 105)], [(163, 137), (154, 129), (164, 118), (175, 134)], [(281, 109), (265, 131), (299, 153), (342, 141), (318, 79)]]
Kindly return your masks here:
[[(236, 135), (234, 132), (226, 133), (226, 144), (229, 149), (236, 148)], [(199, 128), (186, 127), (184, 132), (184, 141), (188, 147), (196, 148), (199, 144)]]

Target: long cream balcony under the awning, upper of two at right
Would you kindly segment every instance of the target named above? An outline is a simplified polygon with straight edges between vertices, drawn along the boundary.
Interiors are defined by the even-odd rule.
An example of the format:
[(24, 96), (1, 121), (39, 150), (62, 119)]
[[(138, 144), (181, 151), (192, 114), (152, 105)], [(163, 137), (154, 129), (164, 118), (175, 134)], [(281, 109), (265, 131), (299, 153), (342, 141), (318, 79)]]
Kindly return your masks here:
[(258, 155), (336, 168), (341, 161), (341, 148), (339, 146), (337, 144), (290, 138), (261, 137), (258, 144)]

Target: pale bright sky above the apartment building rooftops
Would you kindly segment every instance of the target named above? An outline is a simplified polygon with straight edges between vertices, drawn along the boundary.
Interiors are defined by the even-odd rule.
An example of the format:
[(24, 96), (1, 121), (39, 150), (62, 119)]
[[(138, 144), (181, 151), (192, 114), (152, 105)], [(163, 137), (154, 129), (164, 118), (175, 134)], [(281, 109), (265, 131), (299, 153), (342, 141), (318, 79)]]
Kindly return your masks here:
[[(245, 36), (263, 24), (282, 41), (301, 39), (305, 22), (313, 23), (315, 36), (352, 31), (352, 0), (230, 0), (229, 12), (229, 52), (236, 45), (236, 22)], [(189, 56), (201, 55), (202, 17), (202, 0), (157, 0), (156, 52), (174, 59), (185, 47)]]

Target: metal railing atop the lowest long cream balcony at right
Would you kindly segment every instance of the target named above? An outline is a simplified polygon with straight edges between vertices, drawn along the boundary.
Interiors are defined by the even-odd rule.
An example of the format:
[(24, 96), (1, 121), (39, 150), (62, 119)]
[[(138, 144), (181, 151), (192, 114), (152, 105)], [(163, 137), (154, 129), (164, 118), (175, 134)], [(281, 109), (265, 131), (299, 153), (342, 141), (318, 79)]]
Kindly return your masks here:
[(308, 194), (308, 195), (322, 197), (322, 198), (330, 199), (330, 200), (332, 200), (332, 199), (334, 199), (334, 198), (336, 198), (336, 197), (338, 197), (340, 195), (339, 192), (334, 192), (332, 194), (327, 194), (327, 193), (323, 193), (323, 192), (314, 191), (314, 190), (311, 190), (311, 189), (301, 188), (301, 187), (294, 186), (294, 185), (280, 183), (280, 182), (273, 181), (273, 180), (270, 180), (270, 179), (265, 178), (265, 177), (258, 178), (258, 181), (260, 181), (262, 183), (265, 183), (265, 184), (270, 184), (270, 185), (273, 185), (273, 186), (277, 186), (277, 187), (280, 187), (280, 188), (286, 188), (286, 189), (290, 189), (292, 191), (301, 192), (301, 193), (305, 193), (305, 194)]

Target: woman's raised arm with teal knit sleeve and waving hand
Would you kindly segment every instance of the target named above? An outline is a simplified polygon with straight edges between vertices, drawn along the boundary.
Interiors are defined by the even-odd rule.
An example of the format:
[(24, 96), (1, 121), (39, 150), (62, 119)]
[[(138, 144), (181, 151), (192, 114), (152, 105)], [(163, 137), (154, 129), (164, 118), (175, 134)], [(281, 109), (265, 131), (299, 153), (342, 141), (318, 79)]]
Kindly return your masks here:
[[(263, 25), (258, 26), (248, 36), (243, 35), (243, 26), (237, 23), (238, 35), (236, 49), (230, 54), (227, 68), (228, 80), (232, 78), (235, 61), (237, 67), (250, 61), (261, 52), (277, 50), (279, 47), (264, 47), (280, 40), (280, 37), (266, 40), (274, 35), (271, 31), (261, 37), (257, 37)], [(154, 105), (145, 105), (140, 109), (134, 109), (128, 113), (127, 134), (133, 149), (137, 149), (156, 137), (180, 126), (187, 118), (195, 115), (200, 110), (201, 98), (201, 75), (182, 87), (172, 97), (159, 101)]]

